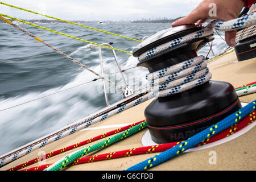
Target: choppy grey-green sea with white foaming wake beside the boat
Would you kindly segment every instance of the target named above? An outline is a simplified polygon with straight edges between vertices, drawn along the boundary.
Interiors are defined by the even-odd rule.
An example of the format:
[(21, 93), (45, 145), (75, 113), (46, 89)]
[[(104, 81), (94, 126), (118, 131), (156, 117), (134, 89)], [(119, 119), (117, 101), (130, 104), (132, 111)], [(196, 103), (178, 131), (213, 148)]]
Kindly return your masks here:
[[(86, 47), (89, 45), (85, 42), (27, 24), (19, 26), (101, 73), (98, 48), (88, 49)], [(72, 24), (41, 26), (99, 44), (114, 42), (114, 48), (129, 52), (139, 43)], [(169, 28), (170, 24), (88, 23), (86, 26), (136, 39)], [(216, 35), (215, 38), (212, 49), (217, 55), (227, 45), (220, 36)], [(208, 51), (207, 45), (198, 55), (206, 56)], [(131, 54), (116, 53), (122, 69), (137, 65), (137, 58)], [(208, 57), (212, 56), (210, 52)], [(24, 57), (31, 58), (23, 59)], [(102, 48), (102, 57), (106, 74), (118, 72), (110, 49)], [(123, 72), (133, 90), (146, 85), (146, 73), (147, 69), (142, 67)], [(102, 80), (90, 82), (94, 78), (97, 76), (42, 43), (9, 24), (0, 23), (0, 155), (106, 107)], [(108, 78), (120, 86), (125, 86), (120, 73)], [(111, 85), (108, 85), (108, 90), (110, 104), (122, 100), (120, 90)]]

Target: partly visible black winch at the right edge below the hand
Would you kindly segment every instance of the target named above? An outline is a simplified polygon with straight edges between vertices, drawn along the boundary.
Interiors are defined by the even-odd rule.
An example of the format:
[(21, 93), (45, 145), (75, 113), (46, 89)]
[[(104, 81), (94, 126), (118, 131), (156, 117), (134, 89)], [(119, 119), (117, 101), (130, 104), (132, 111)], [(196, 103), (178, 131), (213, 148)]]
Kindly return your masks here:
[(234, 47), (238, 61), (244, 61), (256, 57), (256, 35), (241, 40)]

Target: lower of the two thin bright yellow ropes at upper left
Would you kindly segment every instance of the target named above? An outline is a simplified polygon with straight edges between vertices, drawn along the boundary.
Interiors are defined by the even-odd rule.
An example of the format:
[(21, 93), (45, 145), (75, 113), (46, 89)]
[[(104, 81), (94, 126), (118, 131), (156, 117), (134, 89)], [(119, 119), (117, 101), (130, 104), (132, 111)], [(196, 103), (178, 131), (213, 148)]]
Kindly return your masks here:
[(97, 43), (94, 43), (94, 42), (89, 42), (88, 40), (79, 39), (79, 38), (76, 38), (75, 36), (63, 34), (63, 33), (61, 33), (61, 32), (57, 32), (57, 31), (55, 31), (55, 30), (51, 30), (51, 29), (49, 29), (49, 28), (42, 27), (42, 26), (39, 26), (39, 25), (37, 25), (37, 24), (33, 24), (33, 23), (30, 23), (30, 22), (26, 22), (26, 21), (21, 20), (21, 19), (18, 19), (18, 18), (14, 18), (14, 17), (12, 17), (12, 16), (8, 16), (8, 15), (1, 14), (1, 13), (0, 13), (0, 15), (1, 15), (1, 16), (5, 16), (5, 17), (7, 17), (7, 18), (11, 18), (11, 19), (17, 20), (17, 21), (22, 22), (22, 23), (29, 24), (29, 25), (34, 26), (34, 27), (42, 28), (43, 30), (51, 31), (51, 32), (53, 32), (53, 33), (55, 33), (55, 34), (60, 34), (60, 35), (67, 36), (67, 37), (72, 38), (72, 39), (80, 40), (80, 41), (82, 41), (82, 42), (94, 44), (94, 45), (96, 45), (96, 46), (101, 46), (101, 47), (105, 47), (105, 48), (108, 48), (108, 49), (114, 49), (115, 51), (131, 53), (131, 52), (128, 52), (128, 51), (123, 51), (123, 50), (121, 50), (121, 49), (111, 48), (111, 47), (108, 47), (108, 46), (102, 46), (101, 44), (97, 44)]

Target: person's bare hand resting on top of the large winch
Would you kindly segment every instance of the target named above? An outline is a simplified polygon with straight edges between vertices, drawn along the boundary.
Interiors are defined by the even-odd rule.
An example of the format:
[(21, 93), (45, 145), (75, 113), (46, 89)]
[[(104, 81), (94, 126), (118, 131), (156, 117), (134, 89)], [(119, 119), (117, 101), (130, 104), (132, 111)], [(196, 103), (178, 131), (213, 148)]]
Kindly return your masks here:
[[(216, 16), (209, 13), (211, 9), (210, 3), (216, 4)], [(222, 21), (235, 19), (238, 18), (242, 8), (242, 0), (204, 0), (187, 16), (172, 23), (172, 27), (180, 26), (182, 24), (201, 24), (209, 18)], [(229, 46), (236, 46), (236, 34), (236, 30), (225, 32), (225, 40)]]

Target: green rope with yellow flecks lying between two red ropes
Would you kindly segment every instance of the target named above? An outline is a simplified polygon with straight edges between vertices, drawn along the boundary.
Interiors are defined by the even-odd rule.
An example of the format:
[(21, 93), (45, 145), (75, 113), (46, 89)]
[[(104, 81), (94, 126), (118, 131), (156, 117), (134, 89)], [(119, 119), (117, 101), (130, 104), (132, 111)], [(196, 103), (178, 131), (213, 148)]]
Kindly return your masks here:
[(82, 148), (79, 151), (72, 152), (72, 154), (65, 156), (64, 158), (58, 160), (56, 163), (52, 164), (52, 166), (49, 166), (48, 168), (46, 168), (45, 171), (59, 171), (64, 167), (68, 166), (68, 164), (72, 163), (76, 159), (81, 158), (81, 156), (89, 154), (90, 152), (96, 151), (100, 148), (109, 146), (110, 144), (113, 144), (115, 142), (118, 142), (119, 140), (125, 139), (126, 137), (130, 137), (130, 135), (133, 135), (134, 133), (137, 133), (138, 131), (141, 131), (146, 127), (147, 127), (147, 123), (146, 121), (144, 121), (141, 124), (132, 127), (131, 129), (128, 129), (126, 131), (123, 131), (120, 134), (115, 135), (114, 137), (111, 137), (102, 142), (93, 144), (92, 146)]

